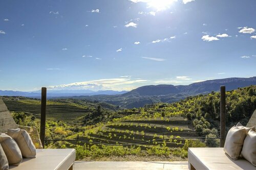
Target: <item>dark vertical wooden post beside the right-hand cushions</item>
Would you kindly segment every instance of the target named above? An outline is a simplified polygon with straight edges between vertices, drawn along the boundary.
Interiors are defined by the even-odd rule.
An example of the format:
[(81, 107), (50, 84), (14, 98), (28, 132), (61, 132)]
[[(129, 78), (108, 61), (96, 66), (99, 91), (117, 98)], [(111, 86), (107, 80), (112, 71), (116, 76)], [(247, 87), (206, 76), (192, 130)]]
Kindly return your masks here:
[(221, 86), (221, 108), (220, 108), (220, 147), (224, 147), (226, 130), (226, 87)]

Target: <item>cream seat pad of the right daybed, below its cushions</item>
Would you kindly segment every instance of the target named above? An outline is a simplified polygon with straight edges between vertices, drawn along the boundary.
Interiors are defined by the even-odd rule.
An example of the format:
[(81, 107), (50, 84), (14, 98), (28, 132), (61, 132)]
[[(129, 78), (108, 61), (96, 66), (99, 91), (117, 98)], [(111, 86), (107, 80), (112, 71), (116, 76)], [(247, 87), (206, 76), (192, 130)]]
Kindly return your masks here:
[(188, 161), (196, 169), (256, 169), (245, 159), (233, 160), (223, 148), (188, 148)]

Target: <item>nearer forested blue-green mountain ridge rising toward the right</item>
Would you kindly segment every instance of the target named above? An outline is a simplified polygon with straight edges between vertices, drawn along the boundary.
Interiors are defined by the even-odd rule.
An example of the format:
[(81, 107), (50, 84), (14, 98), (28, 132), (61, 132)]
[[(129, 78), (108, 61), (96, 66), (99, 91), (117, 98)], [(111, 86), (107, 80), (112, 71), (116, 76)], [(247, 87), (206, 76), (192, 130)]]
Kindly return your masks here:
[(211, 91), (219, 91), (220, 86), (225, 85), (226, 90), (234, 90), (239, 87), (256, 85), (256, 77), (252, 78), (227, 78), (219, 80), (208, 80), (190, 85), (150, 85), (136, 88), (120, 95), (93, 95), (79, 96), (75, 99), (87, 99), (101, 101), (118, 105), (125, 108), (143, 107), (152, 103), (173, 103), (187, 96), (200, 93), (206, 94)]

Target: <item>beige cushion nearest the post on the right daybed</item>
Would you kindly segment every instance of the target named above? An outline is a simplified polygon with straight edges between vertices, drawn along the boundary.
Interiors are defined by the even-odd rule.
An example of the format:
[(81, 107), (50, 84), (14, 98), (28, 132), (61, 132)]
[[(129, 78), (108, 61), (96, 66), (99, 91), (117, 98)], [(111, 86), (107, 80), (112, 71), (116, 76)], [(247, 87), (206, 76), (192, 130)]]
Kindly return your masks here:
[(245, 128), (233, 126), (227, 133), (224, 151), (234, 160), (237, 160), (241, 154), (244, 139), (246, 137)]

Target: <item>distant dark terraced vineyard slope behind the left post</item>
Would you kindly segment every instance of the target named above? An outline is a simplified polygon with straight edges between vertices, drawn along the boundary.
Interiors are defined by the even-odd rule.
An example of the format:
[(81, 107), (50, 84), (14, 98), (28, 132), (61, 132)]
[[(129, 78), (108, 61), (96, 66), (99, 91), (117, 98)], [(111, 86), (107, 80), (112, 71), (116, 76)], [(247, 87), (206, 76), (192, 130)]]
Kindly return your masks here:
[[(41, 105), (36, 100), (15, 100), (14, 98), (2, 97), (9, 111), (25, 112), (40, 118)], [(65, 122), (74, 121), (89, 112), (93, 107), (78, 107), (65, 103), (50, 102), (46, 107), (46, 117), (51, 120), (63, 120)]]

